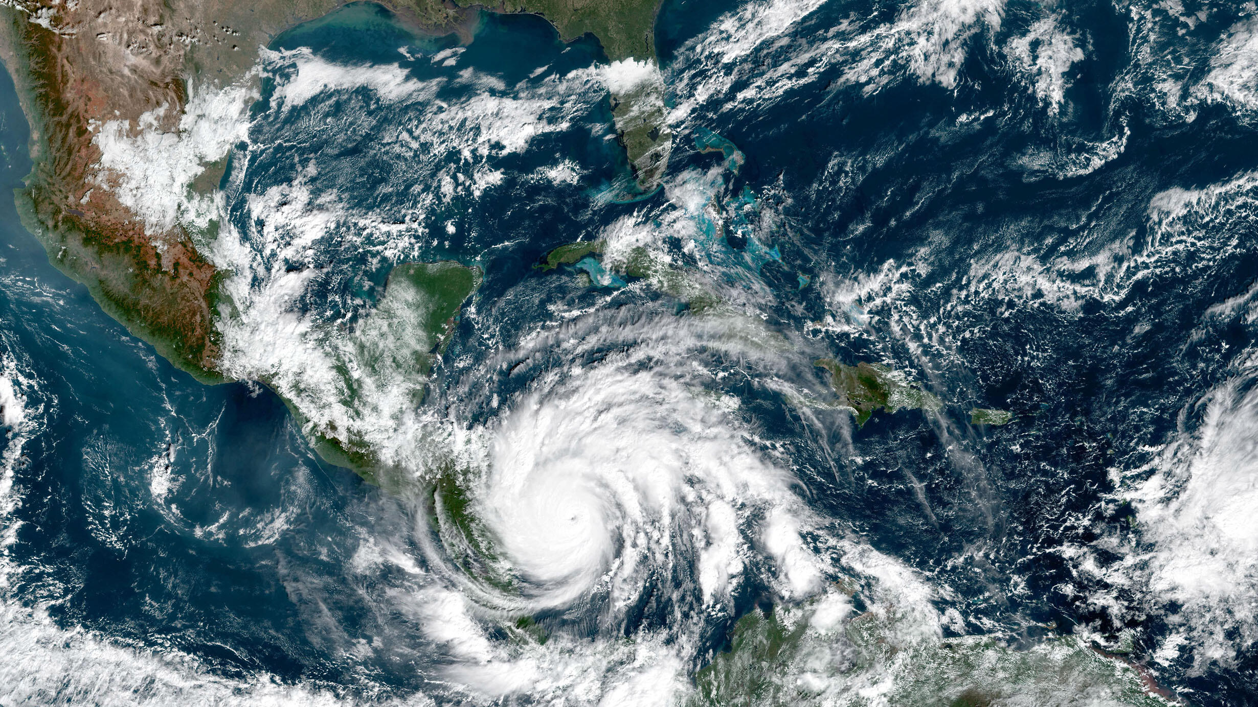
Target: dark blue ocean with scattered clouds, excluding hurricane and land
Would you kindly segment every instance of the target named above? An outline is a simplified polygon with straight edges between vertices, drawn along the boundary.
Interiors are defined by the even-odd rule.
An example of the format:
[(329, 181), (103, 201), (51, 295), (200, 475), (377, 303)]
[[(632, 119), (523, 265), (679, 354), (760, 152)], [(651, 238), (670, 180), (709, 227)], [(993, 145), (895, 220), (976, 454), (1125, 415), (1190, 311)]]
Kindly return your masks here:
[[(1141, 43), (1174, 54), (1195, 67), (1184, 80), (1200, 83), (1224, 41), (1209, 38), (1252, 20), (1210, 6), (1179, 35), (1108, 4), (1008, 3), (999, 29), (966, 38), (954, 80), (920, 80), (896, 54), (911, 55), (906, 44), (888, 45), (894, 51), (855, 80), (853, 67), (882, 46), (862, 38), (911, 19), (912, 6), (820, 4), (782, 41), (718, 62), (712, 46), (737, 36), (713, 23), (737, 11), (664, 4), (655, 29), (663, 83), (684, 116), (671, 181), (629, 203), (606, 197), (626, 163), (605, 90), (572, 78), (601, 62), (590, 38), (565, 45), (538, 18), (484, 15), (460, 49), (372, 5), (281, 35), (249, 113), (249, 144), (233, 152), (223, 181), (225, 217), (267, 266), (258, 286), (267, 273), (309, 273), (294, 311), (360, 321), (399, 262), (481, 266), (484, 283), (425, 404), (468, 428), (491, 426), (506, 414), (499, 398), (574, 364), (560, 345), (569, 334), (530, 348), (554, 330), (540, 323), (605, 314), (570, 332), (601, 337), (577, 349), (576, 365), (593, 368), (638, 345), (643, 321), (701, 321), (658, 289), (575, 276), (598, 279), (596, 260), (555, 275), (532, 267), (618, 224), (654, 226), (665, 234), (650, 242), (658, 252), (704, 273), (788, 349), (779, 368), (716, 345), (687, 355), (720, 373), (717, 393), (741, 401), (757, 448), (789, 460), (791, 487), (833, 524), (828, 531), (946, 588), (933, 605), (964, 619), (945, 637), (989, 634), (1024, 649), (1073, 627), (1113, 643), (1130, 629), (1132, 661), (1188, 702), (1258, 703), (1244, 608), (1255, 586), (1244, 553), (1258, 535), (1252, 519), (1227, 516), (1229, 506), (1191, 485), (1198, 475), (1248, 497), (1258, 470), (1254, 418), (1244, 417), (1255, 379), (1249, 181), (1258, 142), (1244, 105), (1199, 98), (1188, 119), (1186, 108), (1159, 100), (1166, 74), (1141, 54)], [(1057, 103), (1009, 59), (1009, 43), (1044, 16), (1083, 48)], [(827, 41), (828, 53), (804, 57)], [(453, 63), (433, 60), (442, 53)], [(399, 67), (437, 88), (389, 102), (364, 80), (282, 105), (277, 87), (296, 85), (309, 70), (302, 62), (316, 59), (357, 72)], [(756, 83), (791, 62), (772, 85)], [(722, 89), (701, 90), (715, 77), (727, 78)], [(16, 187), (30, 167), (28, 133), (8, 78), (0, 93), (4, 183)], [(486, 108), (477, 97), (498, 103)], [(521, 97), (536, 103), (527, 121), (502, 105)], [(511, 121), (536, 128), (526, 147), (476, 152), (509, 139), (476, 137)], [(455, 132), (472, 137), (447, 139)], [(703, 152), (713, 134), (745, 162), (722, 167), (726, 154)], [(538, 177), (565, 161), (574, 178)], [(452, 196), (434, 200), (443, 180), (455, 185)], [(293, 185), (306, 191), (294, 196)], [(279, 196), (259, 207), (268, 190)], [(289, 203), (304, 211), (281, 208)], [(18, 506), (4, 519), (18, 529), (5, 548), (4, 602), (128, 649), (190, 656), (229, 686), (267, 676), (346, 699), (476, 701), (449, 687), (442, 669), (458, 661), (399, 599), (413, 590), (406, 570), (346, 569), (371, 537), (426, 568), (421, 511), (320, 461), (267, 386), (200, 386), (157, 358), (48, 264), (11, 203), (0, 210), (0, 357), (30, 431), (13, 466)], [(268, 250), (268, 225), (282, 231), (308, 213), (323, 224), (312, 245)], [(634, 365), (663, 368), (668, 355), (664, 347)], [(825, 391), (810, 367), (819, 357), (891, 363), (945, 407), (854, 427), (847, 413), (816, 412), (786, 396), (786, 384), (757, 380)], [(971, 426), (971, 407), (1015, 418)], [(1144, 525), (1132, 488), (1161, 468), (1171, 470), (1171, 500), (1146, 497), (1152, 520)], [(1232, 525), (1191, 525), (1201, 507), (1203, 524)], [(1219, 576), (1232, 589), (1198, 595), (1159, 574), (1169, 558), (1193, 553), (1230, 563), (1234, 574)], [(668, 630), (677, 615), (702, 613), (687, 594), (693, 564), (652, 575), (658, 590), (614, 627), (599, 623), (610, 609), (596, 600), (541, 610), (538, 622), (585, 638)], [(775, 591), (756, 578), (738, 585), (732, 609), (701, 632), (688, 671), (727, 647), (738, 615), (780, 602)], [(1211, 622), (1216, 633), (1193, 628)], [(1176, 632), (1186, 649), (1157, 659)], [(1219, 642), (1225, 656), (1203, 662)], [(104, 699), (79, 689), (67, 683), (29, 699)]]

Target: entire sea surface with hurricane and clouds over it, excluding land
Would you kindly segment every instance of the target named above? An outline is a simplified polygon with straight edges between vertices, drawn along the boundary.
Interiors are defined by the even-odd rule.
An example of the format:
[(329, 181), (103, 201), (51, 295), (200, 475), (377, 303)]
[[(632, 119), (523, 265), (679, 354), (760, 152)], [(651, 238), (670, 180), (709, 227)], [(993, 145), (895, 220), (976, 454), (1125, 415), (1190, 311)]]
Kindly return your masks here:
[[(1193, 703), (1253, 703), (1254, 535), (1229, 505), (1258, 468), (1253, 126), (1223, 78), (1113, 49), (1205, 75), (1249, 19), (1210, 6), (1181, 35), (1105, 4), (922, 8), (665, 3), (674, 152), (630, 202), (609, 198), (628, 165), (590, 38), (484, 15), (459, 46), (360, 4), (276, 39), (221, 182), (259, 323), (234, 355), (282, 350), (317, 392), (311, 352), (348, 365), (395, 265), (482, 267), (425, 402), (379, 413), (382, 445), (439, 440), (424, 453), (483, 471), (464, 490), (482, 564), (431, 501), (317, 458), (267, 386), (155, 357), (0, 203), (0, 652), (19, 658), (0, 694), (579, 703), (642, 666), (687, 694), (740, 617), (843, 595), (866, 625), (920, 602), (911, 630), (877, 624), (894, 640), (988, 637), (995, 663), (1073, 632)], [(918, 26), (972, 31), (915, 63)], [(1066, 69), (1037, 73), (1050, 54)], [(29, 159), (6, 79), (0, 112), (11, 188)], [(649, 267), (624, 267), (638, 252)], [(883, 363), (941, 409), (854, 426), (818, 358)], [(970, 424), (975, 407), (1013, 422)], [(1181, 558), (1225, 589), (1162, 570)], [(844, 637), (825, 669), (776, 672), (886, 669), (901, 703), (1030, 689), (917, 644), (932, 658), (868, 668)]]

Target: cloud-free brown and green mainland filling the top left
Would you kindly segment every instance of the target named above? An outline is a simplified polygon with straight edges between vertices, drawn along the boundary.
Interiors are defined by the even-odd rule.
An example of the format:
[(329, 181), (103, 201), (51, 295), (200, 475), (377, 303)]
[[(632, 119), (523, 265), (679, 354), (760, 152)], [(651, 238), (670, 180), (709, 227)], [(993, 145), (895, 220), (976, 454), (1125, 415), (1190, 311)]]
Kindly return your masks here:
[[(381, 4), (425, 31), (454, 31), (467, 40), (473, 6), (482, 6), (442, 0)], [(221, 274), (198, 252), (182, 227), (146, 234), (107, 188), (96, 188), (98, 151), (89, 124), (135, 121), (146, 111), (170, 105), (175, 109), (167, 113), (171, 121), (162, 129), (174, 129), (187, 100), (186, 70), (200, 80), (230, 83), (254, 65), (257, 48), (284, 28), (325, 16), (341, 5), (345, 3), (338, 0), (262, 5), (169, 0), (128, 15), (109, 11), (106, 0), (81, 0), (53, 6), (43, 24), (30, 21), (40, 10), (34, 0), (0, 8), (0, 54), (31, 126), (33, 171), (28, 187), (18, 195), (24, 225), (40, 237), (53, 264), (87, 285), (109, 315), (201, 382), (225, 380), (216, 365), (215, 305)], [(609, 59), (616, 60), (654, 58), (652, 28), (658, 5), (658, 0), (516, 0), (483, 6), (541, 15), (569, 40), (590, 33)], [(190, 41), (167, 41), (167, 35)], [(150, 57), (142, 67), (120, 67), (108, 59), (112, 54), (98, 48), (101, 41), (127, 36), (147, 46)], [(642, 153), (650, 147), (640, 142), (626, 142), (629, 161), (648, 165)], [(224, 168), (223, 159), (208, 165), (194, 191), (213, 190)], [(643, 168), (657, 173), (653, 166)]]

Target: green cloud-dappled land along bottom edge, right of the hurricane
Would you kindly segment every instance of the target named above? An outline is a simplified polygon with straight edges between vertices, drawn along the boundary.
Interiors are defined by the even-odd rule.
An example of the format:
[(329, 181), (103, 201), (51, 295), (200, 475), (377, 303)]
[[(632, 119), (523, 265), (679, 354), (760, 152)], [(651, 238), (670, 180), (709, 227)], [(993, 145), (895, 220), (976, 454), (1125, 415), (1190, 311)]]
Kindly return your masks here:
[[(1107, 703), (1166, 707), (1141, 674), (1073, 635), (1030, 649), (989, 637), (936, 639), (894, 610), (842, 627), (809, 627), (808, 605), (759, 609), (735, 624), (730, 644), (694, 676), (689, 707), (845, 704), (903, 707)], [(877, 686), (876, 696), (862, 692)]]

